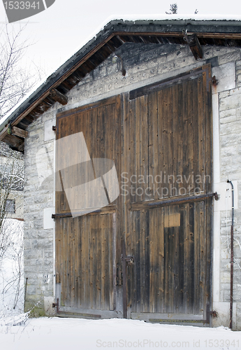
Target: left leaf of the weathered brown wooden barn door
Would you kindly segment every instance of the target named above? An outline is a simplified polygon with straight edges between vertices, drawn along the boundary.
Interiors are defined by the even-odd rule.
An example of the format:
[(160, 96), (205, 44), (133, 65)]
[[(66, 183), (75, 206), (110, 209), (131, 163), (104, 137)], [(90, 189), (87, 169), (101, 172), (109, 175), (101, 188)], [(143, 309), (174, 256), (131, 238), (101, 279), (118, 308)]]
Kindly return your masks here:
[[(92, 209), (87, 214), (73, 210), (70, 200), (75, 196), (78, 181), (83, 177), (89, 181), (94, 159), (112, 161), (119, 176), (119, 106), (119, 97), (113, 97), (57, 116), (56, 290), (58, 311), (65, 315), (89, 318), (116, 315), (118, 199), (110, 203), (108, 198), (104, 208)], [(78, 136), (82, 139), (75, 141)], [(67, 141), (58, 146), (62, 140)], [(78, 157), (85, 146), (89, 161), (79, 167)], [(69, 185), (64, 188), (67, 181)], [(68, 192), (66, 188), (71, 189)], [(98, 187), (90, 188), (90, 197), (96, 200), (98, 191)]]

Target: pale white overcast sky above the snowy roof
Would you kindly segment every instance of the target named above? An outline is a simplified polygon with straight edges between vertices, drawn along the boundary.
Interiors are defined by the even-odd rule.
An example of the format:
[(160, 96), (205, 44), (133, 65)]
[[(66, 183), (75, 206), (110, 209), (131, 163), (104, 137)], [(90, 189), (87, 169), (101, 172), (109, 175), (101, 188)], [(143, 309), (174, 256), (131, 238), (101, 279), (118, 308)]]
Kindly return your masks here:
[[(26, 59), (31, 59), (37, 66), (50, 74), (64, 63), (81, 44), (98, 31), (99, 27), (112, 16), (165, 14), (171, 1), (160, 0), (56, 0), (47, 10), (23, 20), (27, 23), (24, 36), (34, 45), (27, 51)], [(178, 15), (192, 14), (198, 9), (198, 15), (240, 15), (240, 0), (177, 0)], [(3, 2), (0, 1), (0, 30), (6, 23)], [(15, 29), (20, 22), (13, 24)], [(93, 35), (92, 35), (93, 34)]]

